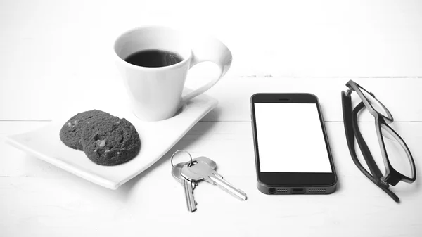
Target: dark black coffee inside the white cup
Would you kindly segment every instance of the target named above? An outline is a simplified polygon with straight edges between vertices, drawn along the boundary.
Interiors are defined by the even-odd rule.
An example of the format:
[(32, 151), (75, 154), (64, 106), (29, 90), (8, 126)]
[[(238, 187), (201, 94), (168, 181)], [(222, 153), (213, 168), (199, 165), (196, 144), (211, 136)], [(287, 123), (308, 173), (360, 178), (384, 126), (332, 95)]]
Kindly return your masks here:
[(148, 49), (132, 53), (124, 60), (136, 66), (160, 68), (180, 63), (183, 58), (178, 53), (161, 49)]

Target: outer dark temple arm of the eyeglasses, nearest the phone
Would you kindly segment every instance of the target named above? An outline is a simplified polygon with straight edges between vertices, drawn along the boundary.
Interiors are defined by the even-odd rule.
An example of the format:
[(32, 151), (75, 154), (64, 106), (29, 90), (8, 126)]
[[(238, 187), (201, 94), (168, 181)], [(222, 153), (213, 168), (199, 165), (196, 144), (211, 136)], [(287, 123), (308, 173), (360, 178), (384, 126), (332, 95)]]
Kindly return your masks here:
[(377, 180), (373, 178), (369, 172), (366, 171), (366, 169), (362, 166), (362, 164), (357, 159), (356, 150), (354, 148), (354, 132), (352, 127), (352, 98), (350, 97), (350, 94), (347, 96), (345, 91), (342, 91), (342, 103), (343, 103), (343, 124), (345, 126), (345, 135), (346, 135), (346, 141), (347, 141), (347, 147), (349, 148), (350, 156), (352, 157), (352, 160), (354, 162), (354, 165), (357, 166), (357, 168), (374, 184), (376, 184), (378, 187), (380, 187), (385, 193), (387, 193), (395, 202), (399, 203), (399, 197), (395, 195), (392, 191), (390, 191), (388, 188), (385, 188), (383, 184), (381, 183), (381, 180)]

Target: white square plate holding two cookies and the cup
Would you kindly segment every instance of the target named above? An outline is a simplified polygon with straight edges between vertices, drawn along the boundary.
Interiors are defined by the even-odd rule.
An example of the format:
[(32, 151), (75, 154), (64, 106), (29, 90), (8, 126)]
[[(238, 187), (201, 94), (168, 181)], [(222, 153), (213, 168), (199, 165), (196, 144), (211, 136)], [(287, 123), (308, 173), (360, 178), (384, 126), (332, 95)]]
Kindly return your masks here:
[(194, 124), (215, 108), (217, 103), (215, 98), (203, 94), (188, 101), (181, 112), (174, 117), (158, 122), (139, 120), (127, 106), (114, 109), (96, 108), (111, 115), (126, 118), (134, 124), (139, 133), (141, 138), (139, 154), (134, 159), (121, 165), (96, 165), (87, 158), (83, 151), (69, 148), (60, 141), (60, 129), (68, 118), (76, 113), (94, 108), (69, 112), (63, 119), (55, 120), (46, 127), (25, 134), (8, 136), (6, 141), (16, 148), (35, 155), (37, 158), (72, 174), (106, 188), (116, 189), (157, 162)]

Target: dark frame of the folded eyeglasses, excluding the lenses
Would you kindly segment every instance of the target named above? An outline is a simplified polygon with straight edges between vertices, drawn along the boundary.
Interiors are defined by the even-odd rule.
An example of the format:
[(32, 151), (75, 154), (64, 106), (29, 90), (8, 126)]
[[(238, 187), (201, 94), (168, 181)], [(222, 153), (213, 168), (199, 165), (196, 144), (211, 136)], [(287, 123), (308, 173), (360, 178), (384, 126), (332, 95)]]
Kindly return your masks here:
[[(370, 93), (369, 91), (366, 91), (363, 87), (361, 87), (356, 82), (353, 82), (350, 80), (347, 82), (346, 86), (349, 88), (347, 91), (342, 91), (342, 105), (343, 105), (343, 123), (345, 126), (345, 134), (347, 139), (347, 146), (349, 147), (350, 155), (352, 156), (352, 160), (354, 164), (361, 170), (362, 173), (366, 175), (371, 181), (373, 181), (374, 184), (379, 186), (385, 193), (388, 193), (389, 196), (391, 196), (396, 202), (399, 201), (399, 198), (395, 195), (395, 193), (392, 193), (388, 189), (389, 184), (392, 186), (395, 186), (399, 181), (404, 181), (407, 183), (413, 183), (416, 180), (416, 166), (414, 163), (414, 159), (410, 153), (409, 147), (404, 142), (401, 136), (395, 132), (394, 129), (392, 129), (388, 123), (394, 122), (394, 118), (392, 117), (390, 111), (381, 103), (381, 101), (378, 101), (378, 99), (375, 97), (374, 94)], [(383, 110), (385, 110), (386, 116), (382, 113), (379, 113), (375, 108), (373, 108), (373, 105), (369, 102), (368, 98), (364, 96), (362, 93), (362, 90), (366, 91), (367, 94), (370, 94), (381, 107)], [(355, 108), (352, 107), (352, 91), (357, 92), (357, 95), (361, 99), (362, 102), (360, 102)], [(371, 152), (369, 150), (369, 147), (366, 145), (366, 142), (364, 141), (364, 138), (360, 132), (359, 126), (357, 124), (357, 114), (363, 109), (366, 108), (369, 113), (375, 117), (375, 126), (376, 126), (376, 133), (378, 137), (378, 143), (381, 148), (381, 155), (383, 157), (384, 167), (385, 167), (385, 175), (383, 175), (378, 167), (376, 165), (375, 160), (373, 160), (373, 157), (371, 155)], [(409, 159), (410, 165), (411, 165), (411, 174), (412, 177), (407, 177), (406, 175), (397, 172), (394, 167), (392, 167), (390, 160), (388, 158), (387, 150), (385, 149), (385, 143), (383, 139), (383, 135), (381, 132), (381, 126), (384, 126), (383, 129), (389, 130), (387, 132), (392, 132), (395, 136), (395, 139), (399, 141), (402, 148), (407, 153), (407, 158)], [(391, 135), (393, 135), (391, 134)], [(354, 139), (357, 140), (357, 143), (359, 145), (360, 150), (362, 151), (362, 155), (364, 156), (364, 159), (366, 161), (366, 164), (369, 167), (369, 170), (371, 174), (362, 166), (362, 164), (359, 162), (356, 150), (354, 148)]]

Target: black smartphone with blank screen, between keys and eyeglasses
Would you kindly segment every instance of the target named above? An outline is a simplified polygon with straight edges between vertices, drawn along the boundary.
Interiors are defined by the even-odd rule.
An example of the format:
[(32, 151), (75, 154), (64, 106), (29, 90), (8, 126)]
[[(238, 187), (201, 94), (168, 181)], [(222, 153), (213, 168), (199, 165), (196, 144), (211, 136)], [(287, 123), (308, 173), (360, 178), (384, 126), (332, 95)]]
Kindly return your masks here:
[(267, 194), (328, 194), (337, 186), (318, 98), (254, 94), (251, 118), (257, 188)]

